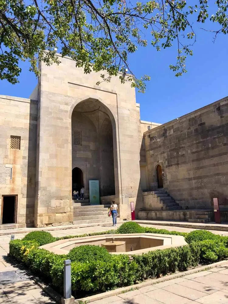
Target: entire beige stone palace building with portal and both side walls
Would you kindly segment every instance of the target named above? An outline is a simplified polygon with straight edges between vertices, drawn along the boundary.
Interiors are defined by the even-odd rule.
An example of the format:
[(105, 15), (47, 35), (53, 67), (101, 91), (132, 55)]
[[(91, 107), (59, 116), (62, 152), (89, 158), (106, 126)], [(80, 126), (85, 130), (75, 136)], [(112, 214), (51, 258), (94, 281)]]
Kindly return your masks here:
[(70, 58), (40, 71), (29, 99), (0, 95), (0, 229), (103, 222), (113, 199), (121, 219), (205, 222), (216, 197), (228, 220), (228, 98), (161, 125), (130, 82), (97, 86)]

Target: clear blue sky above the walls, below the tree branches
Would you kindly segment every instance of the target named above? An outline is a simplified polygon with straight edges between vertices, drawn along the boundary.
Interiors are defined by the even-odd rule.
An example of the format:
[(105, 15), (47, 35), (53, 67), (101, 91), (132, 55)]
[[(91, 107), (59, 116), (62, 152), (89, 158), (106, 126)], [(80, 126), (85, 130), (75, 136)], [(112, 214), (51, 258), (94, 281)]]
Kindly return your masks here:
[[(213, 34), (200, 26), (196, 24), (194, 54), (187, 59), (188, 73), (182, 77), (176, 78), (169, 69), (175, 63), (176, 45), (160, 52), (148, 45), (130, 57), (136, 76), (151, 76), (146, 93), (136, 93), (142, 120), (165, 123), (228, 95), (227, 37), (221, 34), (213, 43)], [(0, 94), (29, 97), (37, 80), (27, 62), (20, 66), (20, 83), (0, 81)]]

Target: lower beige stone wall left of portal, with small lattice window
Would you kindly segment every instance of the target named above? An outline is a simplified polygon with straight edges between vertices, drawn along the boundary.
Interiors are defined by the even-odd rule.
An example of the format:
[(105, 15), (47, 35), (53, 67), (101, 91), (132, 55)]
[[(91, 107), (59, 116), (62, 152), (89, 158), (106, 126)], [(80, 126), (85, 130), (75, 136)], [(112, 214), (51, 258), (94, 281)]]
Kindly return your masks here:
[[(2, 195), (17, 195), (17, 227), (34, 225), (36, 126), (36, 101), (0, 95), (0, 210)], [(20, 149), (10, 148), (11, 136)]]

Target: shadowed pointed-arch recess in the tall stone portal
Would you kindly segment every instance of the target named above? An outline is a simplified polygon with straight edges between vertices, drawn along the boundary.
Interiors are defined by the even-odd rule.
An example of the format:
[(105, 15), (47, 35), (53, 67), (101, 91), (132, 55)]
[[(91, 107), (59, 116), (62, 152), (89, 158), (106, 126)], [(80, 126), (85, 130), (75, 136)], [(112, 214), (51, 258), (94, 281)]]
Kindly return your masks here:
[(100, 196), (118, 193), (115, 119), (100, 100), (87, 98), (72, 108), (71, 139), (72, 168), (83, 171), (85, 198), (90, 180), (99, 181)]

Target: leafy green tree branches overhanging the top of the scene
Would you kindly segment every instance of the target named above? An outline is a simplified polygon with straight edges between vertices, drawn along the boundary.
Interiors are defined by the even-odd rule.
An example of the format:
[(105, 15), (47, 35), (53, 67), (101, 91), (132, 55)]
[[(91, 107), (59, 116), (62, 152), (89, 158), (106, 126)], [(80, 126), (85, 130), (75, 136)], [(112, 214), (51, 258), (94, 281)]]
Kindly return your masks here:
[(189, 6), (183, 0), (0, 0), (0, 79), (18, 82), (19, 60), (26, 59), (39, 76), (37, 61), (58, 64), (59, 48), (85, 73), (101, 72), (101, 81), (110, 81), (122, 72), (121, 82), (130, 80), (144, 92), (150, 77), (136, 78), (128, 61), (139, 46), (150, 44), (159, 51), (174, 44), (177, 61), (170, 68), (180, 76), (186, 73), (185, 59), (195, 42), (192, 21), (209, 19), (218, 27), (215, 36), (228, 33), (228, 0), (217, 0), (212, 16), (208, 0), (196, 2)]

